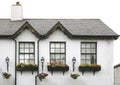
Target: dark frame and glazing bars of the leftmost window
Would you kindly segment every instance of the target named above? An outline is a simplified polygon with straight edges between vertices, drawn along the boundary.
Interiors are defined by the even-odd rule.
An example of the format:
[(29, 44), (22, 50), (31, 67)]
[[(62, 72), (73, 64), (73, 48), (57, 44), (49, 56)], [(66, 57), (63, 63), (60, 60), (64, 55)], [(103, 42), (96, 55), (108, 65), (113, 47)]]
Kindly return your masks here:
[[(21, 53), (21, 52), (20, 52), (20, 49), (21, 49), (20, 44), (21, 44), (21, 43), (24, 44), (24, 47), (23, 47), (23, 48), (24, 48), (24, 53)], [(30, 51), (30, 43), (33, 44), (33, 50), (34, 50), (33, 53), (25, 53), (25, 44), (26, 44), (26, 43), (29, 44), (29, 47), (28, 47), (28, 48), (29, 48), (29, 51)], [(20, 60), (24, 60), (24, 64), (26, 64), (26, 63), (25, 63), (25, 60), (29, 60), (29, 64), (31, 64), (31, 63), (30, 63), (30, 60), (33, 60), (34, 63), (32, 63), (32, 64), (35, 64), (35, 42), (19, 42), (19, 47), (18, 47), (18, 49), (19, 49), (19, 50), (18, 50), (18, 51), (19, 51), (19, 57), (18, 57), (18, 63), (19, 63), (19, 64), (20, 64)], [(24, 55), (24, 59), (20, 59), (20, 54), (23, 54), (23, 55)], [(26, 54), (29, 55), (29, 59), (25, 59), (25, 55), (26, 55)], [(30, 54), (33, 54), (34, 59), (30, 59)]]

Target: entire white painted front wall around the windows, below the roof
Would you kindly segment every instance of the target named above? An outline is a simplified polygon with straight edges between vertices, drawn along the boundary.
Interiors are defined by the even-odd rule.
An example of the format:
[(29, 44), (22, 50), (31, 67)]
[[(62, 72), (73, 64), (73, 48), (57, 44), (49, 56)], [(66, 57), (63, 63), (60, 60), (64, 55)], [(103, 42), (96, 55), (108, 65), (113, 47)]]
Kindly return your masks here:
[[(36, 50), (36, 64), (37, 64), (37, 41), (38, 39), (34, 34), (30, 31), (25, 30), (22, 32), (17, 38), (17, 43), (19, 41), (26, 42), (35, 42), (35, 50)], [(54, 72), (51, 75), (50, 72), (47, 71), (47, 63), (49, 62), (49, 42), (56, 41), (66, 42), (66, 64), (69, 65), (69, 71), (65, 72), (65, 75), (62, 72)], [(101, 71), (96, 72), (95, 75), (91, 72), (85, 72), (82, 75), (81, 72), (78, 71), (78, 66), (80, 65), (80, 43), (82, 41), (89, 42), (97, 42), (97, 63), (101, 65)], [(17, 46), (18, 47), (18, 46)], [(11, 52), (10, 52), (11, 51)], [(6, 64), (4, 59), (6, 56), (10, 56), (10, 71), (12, 73), (12, 77), (14, 79), (14, 57), (15, 57), (15, 45), (13, 40), (0, 40), (0, 72), (6, 70)], [(18, 56), (18, 53), (17, 53)], [(113, 85), (113, 41), (112, 40), (76, 40), (69, 39), (63, 32), (60, 30), (55, 31), (51, 34), (47, 39), (40, 40), (39, 42), (39, 57), (45, 58), (44, 63), (44, 72), (48, 73), (48, 77), (40, 82), (38, 80), (37, 85)], [(80, 77), (77, 80), (73, 80), (70, 77), (72, 73), (72, 57), (76, 57), (77, 61), (75, 64), (75, 72), (80, 74)], [(41, 63), (39, 66), (39, 70), (41, 72)], [(34, 85), (35, 84), (35, 72), (32, 73), (23, 72), (21, 75), (20, 72), (17, 72), (17, 85)], [(3, 79), (0, 79), (3, 82)], [(1, 84), (0, 84), (1, 85)], [(4, 84), (8, 85), (8, 84)], [(9, 84), (14, 85), (14, 84)]]

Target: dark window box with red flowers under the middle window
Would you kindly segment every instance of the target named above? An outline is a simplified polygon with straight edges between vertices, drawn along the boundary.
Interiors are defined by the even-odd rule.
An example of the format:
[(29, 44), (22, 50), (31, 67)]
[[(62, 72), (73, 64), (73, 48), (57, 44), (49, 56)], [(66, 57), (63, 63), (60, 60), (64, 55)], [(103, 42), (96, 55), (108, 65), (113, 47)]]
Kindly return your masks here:
[(69, 66), (66, 64), (48, 64), (47, 65), (48, 71), (51, 71), (53, 74), (53, 71), (63, 71), (63, 74), (65, 71), (69, 70)]

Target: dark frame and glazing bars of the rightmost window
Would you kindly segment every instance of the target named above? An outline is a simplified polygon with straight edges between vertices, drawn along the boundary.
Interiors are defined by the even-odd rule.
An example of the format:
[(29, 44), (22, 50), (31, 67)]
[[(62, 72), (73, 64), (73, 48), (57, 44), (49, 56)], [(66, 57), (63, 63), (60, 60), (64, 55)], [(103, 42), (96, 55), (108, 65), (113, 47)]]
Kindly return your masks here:
[[(94, 43), (94, 44), (95, 44), (95, 48), (94, 48), (94, 49), (95, 49), (95, 53), (82, 53), (82, 49), (83, 49), (83, 48), (82, 48), (82, 44), (83, 44), (83, 43), (85, 43), (85, 44), (86, 44), (86, 43), (89, 43), (89, 44), (90, 44), (90, 51), (91, 51), (91, 44)], [(91, 55), (91, 54), (95, 55), (95, 63), (94, 63), (94, 64), (97, 64), (97, 42), (81, 42), (81, 47), (80, 47), (80, 48), (81, 48), (81, 52), (80, 52), (80, 55), (81, 55), (81, 58), (80, 58), (80, 59), (81, 59), (81, 60), (80, 60), (81, 62), (80, 62), (80, 63), (81, 63), (81, 64), (83, 64), (83, 63), (82, 63), (82, 60), (85, 61), (85, 64), (87, 64), (87, 60), (90, 60), (90, 59), (86, 59), (86, 55), (87, 55), (87, 54), (88, 54), (88, 55)], [(85, 49), (86, 49), (86, 46), (85, 46)], [(92, 48), (92, 49), (93, 49), (93, 48)], [(82, 55), (85, 55), (85, 59), (82, 59)], [(90, 62), (91, 62), (91, 60), (90, 60)], [(91, 64), (91, 63), (90, 63), (90, 64)]]

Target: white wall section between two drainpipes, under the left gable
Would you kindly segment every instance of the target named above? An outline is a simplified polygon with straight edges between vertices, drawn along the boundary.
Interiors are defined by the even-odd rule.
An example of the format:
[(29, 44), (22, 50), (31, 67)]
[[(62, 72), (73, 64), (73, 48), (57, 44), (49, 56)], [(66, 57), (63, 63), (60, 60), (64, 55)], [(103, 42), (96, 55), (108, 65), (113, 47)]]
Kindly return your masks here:
[[(19, 42), (35, 42), (35, 64), (37, 64), (37, 41), (38, 38), (32, 34), (28, 29), (24, 30), (17, 38), (17, 49)], [(18, 62), (18, 51), (17, 51), (17, 62)], [(34, 85), (35, 84), (35, 76), (37, 72), (23, 72), (21, 75), (20, 71), (17, 71), (17, 85)]]

